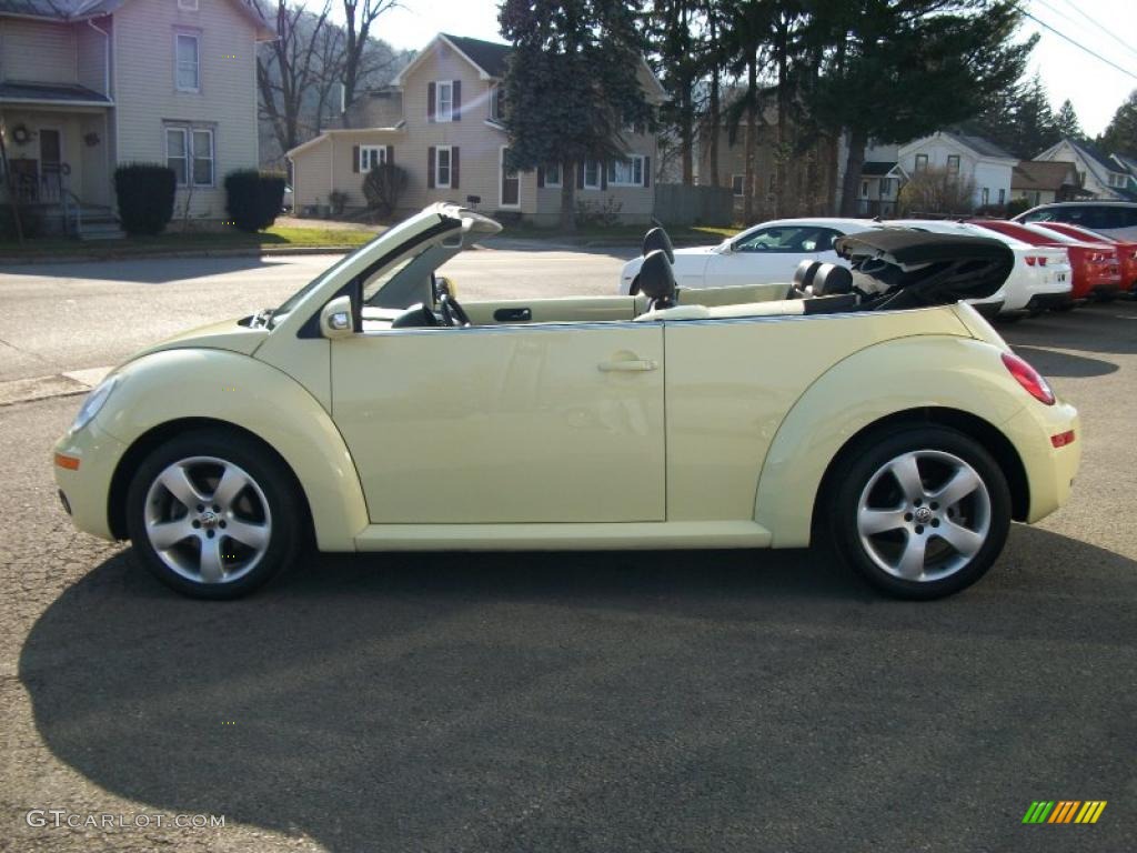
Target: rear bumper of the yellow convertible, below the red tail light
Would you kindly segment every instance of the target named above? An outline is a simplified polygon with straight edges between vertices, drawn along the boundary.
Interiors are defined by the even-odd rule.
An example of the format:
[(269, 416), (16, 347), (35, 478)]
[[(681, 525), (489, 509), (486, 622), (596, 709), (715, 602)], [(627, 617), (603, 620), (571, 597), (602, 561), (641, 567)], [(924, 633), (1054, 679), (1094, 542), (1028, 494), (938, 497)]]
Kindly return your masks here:
[[(1074, 440), (1054, 447), (1051, 437), (1069, 430), (1073, 430)], [(1031, 400), (1004, 424), (1003, 432), (1018, 449), (1026, 469), (1030, 491), (1027, 522), (1034, 524), (1070, 499), (1085, 440), (1078, 409), (1068, 403), (1044, 406)]]

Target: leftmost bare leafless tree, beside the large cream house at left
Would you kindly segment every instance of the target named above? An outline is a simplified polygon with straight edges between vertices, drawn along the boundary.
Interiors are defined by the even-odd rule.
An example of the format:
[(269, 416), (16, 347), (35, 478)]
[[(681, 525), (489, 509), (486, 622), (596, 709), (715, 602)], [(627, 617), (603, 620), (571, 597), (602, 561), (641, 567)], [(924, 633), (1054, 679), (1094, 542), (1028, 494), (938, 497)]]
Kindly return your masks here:
[(300, 143), (305, 96), (330, 76), (323, 65), (324, 59), (334, 56), (330, 11), (331, 0), (324, 0), (319, 14), (277, 0), (276, 41), (265, 44), (257, 56), (262, 116), (272, 124), (282, 151)]

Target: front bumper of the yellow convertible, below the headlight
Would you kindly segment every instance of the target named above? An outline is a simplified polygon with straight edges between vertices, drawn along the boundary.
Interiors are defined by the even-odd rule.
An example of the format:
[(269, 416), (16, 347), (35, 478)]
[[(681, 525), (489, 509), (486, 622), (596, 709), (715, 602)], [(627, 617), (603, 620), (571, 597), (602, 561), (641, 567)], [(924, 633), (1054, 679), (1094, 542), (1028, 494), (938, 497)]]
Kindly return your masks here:
[(78, 459), (74, 470), (55, 464), (56, 486), (65, 506), (70, 507), (72, 522), (83, 532), (114, 541), (108, 516), (110, 481), (126, 446), (99, 430), (92, 422), (78, 432), (56, 442), (55, 453)]

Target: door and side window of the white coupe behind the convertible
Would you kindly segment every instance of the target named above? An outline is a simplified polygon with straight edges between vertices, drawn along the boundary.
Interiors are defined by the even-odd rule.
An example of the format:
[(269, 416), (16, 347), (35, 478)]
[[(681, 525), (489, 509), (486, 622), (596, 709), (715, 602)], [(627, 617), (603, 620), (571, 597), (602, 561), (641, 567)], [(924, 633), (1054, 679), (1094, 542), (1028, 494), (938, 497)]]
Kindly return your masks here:
[(823, 230), (794, 224), (752, 231), (730, 243), (729, 251), (721, 251), (711, 258), (706, 268), (706, 287), (789, 282), (802, 260), (819, 258), (818, 234)]

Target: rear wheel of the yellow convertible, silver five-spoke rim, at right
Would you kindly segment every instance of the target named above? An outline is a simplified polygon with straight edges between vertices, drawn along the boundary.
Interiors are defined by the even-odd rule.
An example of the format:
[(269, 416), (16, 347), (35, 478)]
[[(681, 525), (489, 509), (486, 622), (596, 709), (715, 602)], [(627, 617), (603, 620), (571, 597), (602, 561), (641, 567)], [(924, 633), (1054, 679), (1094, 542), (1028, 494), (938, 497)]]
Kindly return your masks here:
[(897, 598), (928, 599), (974, 583), (1011, 525), (998, 464), (943, 426), (874, 433), (845, 454), (828, 506), (843, 558)]

